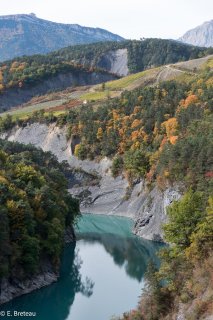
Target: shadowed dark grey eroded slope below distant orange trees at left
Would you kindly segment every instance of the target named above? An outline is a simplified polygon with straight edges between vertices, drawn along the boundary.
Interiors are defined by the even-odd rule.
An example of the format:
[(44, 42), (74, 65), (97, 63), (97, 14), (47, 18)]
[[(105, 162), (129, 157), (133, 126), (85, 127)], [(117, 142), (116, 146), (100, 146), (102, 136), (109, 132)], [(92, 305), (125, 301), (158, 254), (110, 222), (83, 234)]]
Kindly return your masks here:
[(30, 101), (35, 96), (44, 95), (49, 92), (61, 91), (76, 85), (94, 85), (117, 77), (104, 72), (76, 71), (58, 74), (55, 77), (44, 79), (34, 86), (23, 86), (22, 88), (11, 88), (0, 94), (0, 111), (17, 107)]

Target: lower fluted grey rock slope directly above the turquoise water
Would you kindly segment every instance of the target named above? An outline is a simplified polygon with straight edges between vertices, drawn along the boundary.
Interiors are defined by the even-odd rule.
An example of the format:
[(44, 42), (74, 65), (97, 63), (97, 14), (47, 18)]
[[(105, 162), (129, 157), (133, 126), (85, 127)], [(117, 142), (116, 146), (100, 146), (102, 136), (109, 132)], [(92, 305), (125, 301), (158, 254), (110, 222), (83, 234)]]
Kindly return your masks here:
[(125, 216), (135, 221), (133, 232), (149, 240), (163, 241), (162, 223), (166, 222), (166, 208), (180, 198), (178, 187), (160, 191), (148, 190), (143, 181), (132, 189), (122, 176), (113, 179), (109, 172), (101, 174), (99, 185), (74, 187), (70, 192), (81, 201), (81, 212)]

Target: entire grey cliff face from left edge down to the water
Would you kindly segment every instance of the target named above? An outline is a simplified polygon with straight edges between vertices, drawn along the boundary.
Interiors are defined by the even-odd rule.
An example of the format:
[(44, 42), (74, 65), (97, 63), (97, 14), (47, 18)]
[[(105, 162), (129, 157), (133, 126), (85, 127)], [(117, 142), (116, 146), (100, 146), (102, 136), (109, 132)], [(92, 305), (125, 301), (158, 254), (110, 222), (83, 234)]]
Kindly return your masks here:
[(162, 241), (161, 225), (166, 221), (166, 207), (180, 198), (177, 187), (160, 191), (157, 187), (148, 190), (143, 181), (135, 181), (130, 189), (123, 176), (113, 178), (111, 161), (104, 158), (95, 161), (80, 161), (72, 155), (71, 140), (66, 140), (66, 128), (54, 124), (32, 124), (14, 128), (2, 138), (21, 143), (32, 143), (44, 151), (54, 153), (59, 161), (68, 161), (75, 169), (75, 184), (69, 191), (81, 201), (81, 212), (111, 214), (134, 219), (134, 232), (149, 240)]

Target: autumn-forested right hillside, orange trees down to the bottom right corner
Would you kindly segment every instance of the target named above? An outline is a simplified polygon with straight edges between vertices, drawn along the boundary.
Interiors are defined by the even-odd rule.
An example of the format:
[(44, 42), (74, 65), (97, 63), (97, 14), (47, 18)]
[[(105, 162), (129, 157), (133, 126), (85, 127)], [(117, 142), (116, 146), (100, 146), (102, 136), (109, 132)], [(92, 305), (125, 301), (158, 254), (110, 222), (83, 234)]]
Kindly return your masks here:
[[(57, 122), (67, 138), (79, 137), (79, 159), (112, 158), (112, 174), (123, 173), (130, 188), (139, 179), (161, 190), (178, 184), (183, 193), (168, 209), (159, 272), (147, 274), (137, 310), (123, 319), (172, 319), (182, 313), (203, 319), (212, 313), (213, 246), (213, 72), (211, 62), (193, 77), (124, 92), (101, 105), (83, 106), (56, 117), (36, 112), (19, 120)], [(1, 120), (1, 130), (14, 125)], [(205, 317), (204, 317), (205, 319)]]

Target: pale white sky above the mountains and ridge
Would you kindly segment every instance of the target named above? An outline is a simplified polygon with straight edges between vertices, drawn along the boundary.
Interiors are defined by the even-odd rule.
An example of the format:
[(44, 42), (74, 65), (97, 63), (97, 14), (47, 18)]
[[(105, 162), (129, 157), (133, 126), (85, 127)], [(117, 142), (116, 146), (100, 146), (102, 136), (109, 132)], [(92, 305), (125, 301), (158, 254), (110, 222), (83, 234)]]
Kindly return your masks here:
[(99, 27), (127, 39), (177, 39), (213, 19), (212, 0), (0, 0), (0, 15)]

